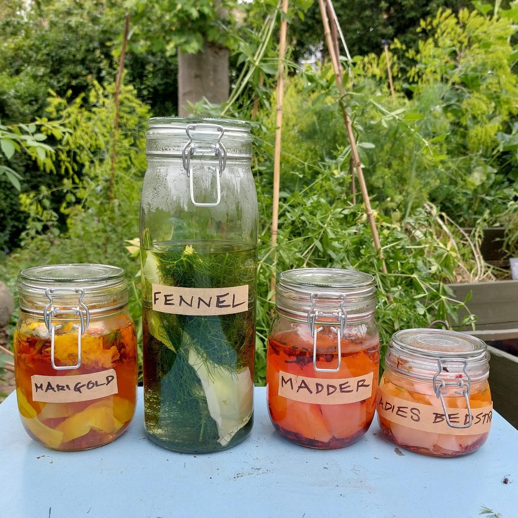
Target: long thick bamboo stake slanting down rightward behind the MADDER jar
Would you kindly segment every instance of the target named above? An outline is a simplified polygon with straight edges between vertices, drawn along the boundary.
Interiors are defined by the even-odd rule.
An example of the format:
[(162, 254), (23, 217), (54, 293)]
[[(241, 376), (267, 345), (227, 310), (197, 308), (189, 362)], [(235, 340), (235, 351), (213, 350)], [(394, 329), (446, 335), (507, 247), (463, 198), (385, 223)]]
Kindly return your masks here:
[[(347, 107), (345, 104), (344, 96), (346, 94), (343, 88), (342, 76), (340, 74), (340, 64), (338, 61), (338, 57), (334, 51), (333, 41), (331, 39), (331, 32), (329, 28), (329, 22), (327, 19), (326, 8), (324, 5), (324, 0), (319, 0), (320, 7), (320, 15), (322, 17), (322, 23), (324, 25), (324, 36), (326, 39), (327, 49), (329, 51), (329, 55), (331, 56), (331, 61), (333, 63), (333, 69), (335, 71), (335, 79), (338, 85), (338, 91), (340, 93), (340, 105), (342, 107), (343, 120), (346, 124), (347, 136), (349, 138), (349, 143), (351, 145), (351, 153), (354, 169), (356, 170), (356, 175), (358, 177), (358, 183), (360, 187), (360, 191), (362, 192), (363, 203), (365, 205), (365, 212), (367, 214), (367, 219), (369, 221), (370, 231), (372, 233), (372, 239), (374, 241), (374, 246), (376, 251), (379, 254), (381, 259), (381, 271), (386, 274), (387, 267), (385, 264), (385, 257), (383, 255), (383, 250), (381, 249), (380, 237), (378, 234), (378, 229), (376, 228), (376, 222), (374, 221), (372, 208), (370, 206), (369, 193), (367, 191), (367, 184), (365, 183), (365, 177), (363, 176), (362, 163), (359, 160), (358, 148), (356, 147), (356, 140), (354, 138), (353, 127), (351, 123), (351, 118), (349, 117), (349, 113), (347, 111)], [(392, 298), (392, 297), (390, 297)]]

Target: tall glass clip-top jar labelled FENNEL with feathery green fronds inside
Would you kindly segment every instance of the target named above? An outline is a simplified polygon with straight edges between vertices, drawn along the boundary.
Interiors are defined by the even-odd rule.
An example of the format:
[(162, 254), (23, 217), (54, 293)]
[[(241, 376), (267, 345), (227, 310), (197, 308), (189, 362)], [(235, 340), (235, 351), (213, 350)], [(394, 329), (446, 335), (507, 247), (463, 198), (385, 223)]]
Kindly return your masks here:
[(149, 121), (142, 187), (149, 438), (213, 452), (252, 427), (257, 197), (250, 124)]

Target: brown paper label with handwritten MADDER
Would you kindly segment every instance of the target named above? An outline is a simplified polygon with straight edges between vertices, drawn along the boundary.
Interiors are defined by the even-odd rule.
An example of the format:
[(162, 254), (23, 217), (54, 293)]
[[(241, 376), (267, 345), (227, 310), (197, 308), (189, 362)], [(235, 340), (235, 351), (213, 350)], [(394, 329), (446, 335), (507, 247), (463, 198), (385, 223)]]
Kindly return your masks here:
[(369, 372), (356, 378), (309, 378), (279, 372), (279, 396), (318, 405), (341, 405), (363, 401), (372, 395)]

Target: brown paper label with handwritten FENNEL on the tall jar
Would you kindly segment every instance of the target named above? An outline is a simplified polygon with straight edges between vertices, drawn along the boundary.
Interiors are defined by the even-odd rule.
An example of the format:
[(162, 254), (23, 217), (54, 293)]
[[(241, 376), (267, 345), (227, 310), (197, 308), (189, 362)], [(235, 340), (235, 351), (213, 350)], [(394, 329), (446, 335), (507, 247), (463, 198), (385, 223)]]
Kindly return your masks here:
[(227, 315), (248, 310), (248, 284), (228, 288), (181, 288), (153, 284), (153, 309), (175, 315)]

